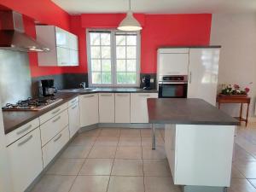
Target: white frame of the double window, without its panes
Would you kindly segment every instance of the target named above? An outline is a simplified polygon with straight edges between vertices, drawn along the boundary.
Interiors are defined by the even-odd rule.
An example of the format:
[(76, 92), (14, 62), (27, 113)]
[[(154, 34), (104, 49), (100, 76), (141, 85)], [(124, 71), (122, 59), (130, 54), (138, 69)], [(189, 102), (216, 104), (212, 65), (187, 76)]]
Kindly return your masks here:
[[(92, 71), (91, 71), (91, 54), (90, 54), (90, 31), (96, 32), (110, 32), (110, 49), (111, 49), (111, 84), (92, 84)], [(113, 28), (87, 28), (86, 35), (86, 51), (87, 51), (87, 63), (88, 63), (88, 84), (89, 87), (139, 87), (140, 86), (140, 70), (141, 70), (141, 33), (137, 33), (137, 53), (136, 53), (136, 84), (117, 84), (117, 63), (116, 63), (116, 38), (115, 33), (121, 32)], [(124, 32), (125, 33), (125, 32)], [(101, 46), (101, 44), (100, 44)], [(125, 46), (127, 47), (127, 46)], [(127, 58), (125, 58), (127, 60)], [(102, 69), (101, 69), (102, 70)]]

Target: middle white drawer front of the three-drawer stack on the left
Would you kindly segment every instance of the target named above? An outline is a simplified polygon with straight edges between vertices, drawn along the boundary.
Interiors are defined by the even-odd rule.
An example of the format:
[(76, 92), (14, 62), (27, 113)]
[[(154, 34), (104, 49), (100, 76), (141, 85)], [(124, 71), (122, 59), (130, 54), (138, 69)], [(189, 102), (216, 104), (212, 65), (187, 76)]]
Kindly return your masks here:
[(56, 115), (53, 119), (49, 119), (43, 125), (40, 125), (42, 146), (49, 142), (50, 139), (55, 137), (61, 130), (68, 125), (67, 110)]

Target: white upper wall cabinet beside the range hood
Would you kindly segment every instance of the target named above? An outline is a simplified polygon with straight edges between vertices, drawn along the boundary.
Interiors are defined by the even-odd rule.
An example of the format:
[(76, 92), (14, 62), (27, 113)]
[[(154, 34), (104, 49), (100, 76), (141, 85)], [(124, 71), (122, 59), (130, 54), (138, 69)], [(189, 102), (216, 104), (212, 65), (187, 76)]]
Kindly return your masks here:
[(38, 41), (50, 51), (38, 53), (39, 66), (79, 66), (78, 37), (57, 26), (36, 26)]

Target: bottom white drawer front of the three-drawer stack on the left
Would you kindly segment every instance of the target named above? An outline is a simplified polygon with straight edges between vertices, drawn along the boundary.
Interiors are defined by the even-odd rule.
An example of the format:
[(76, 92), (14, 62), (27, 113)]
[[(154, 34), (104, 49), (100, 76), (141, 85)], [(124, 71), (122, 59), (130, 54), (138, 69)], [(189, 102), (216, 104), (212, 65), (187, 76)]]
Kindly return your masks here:
[(49, 164), (52, 159), (54, 159), (55, 155), (59, 153), (61, 148), (65, 146), (68, 140), (69, 131), (68, 127), (66, 127), (42, 148), (44, 168)]

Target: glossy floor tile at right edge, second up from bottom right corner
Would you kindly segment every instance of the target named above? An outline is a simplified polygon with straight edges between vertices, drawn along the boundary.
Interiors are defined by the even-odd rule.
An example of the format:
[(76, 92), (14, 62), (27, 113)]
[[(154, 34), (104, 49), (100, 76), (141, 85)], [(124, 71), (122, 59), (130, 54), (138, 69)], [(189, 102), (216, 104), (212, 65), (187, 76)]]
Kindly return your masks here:
[(234, 166), (245, 177), (256, 178), (256, 162), (247, 162), (247, 163), (235, 162)]

